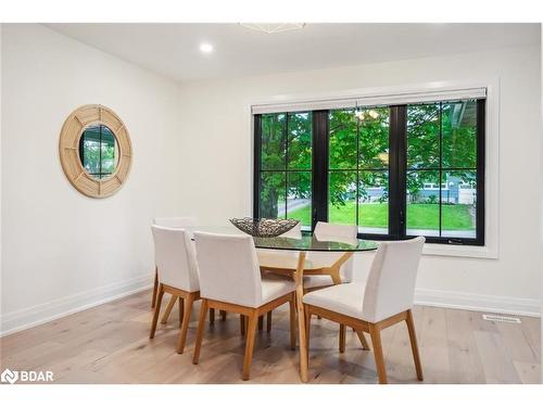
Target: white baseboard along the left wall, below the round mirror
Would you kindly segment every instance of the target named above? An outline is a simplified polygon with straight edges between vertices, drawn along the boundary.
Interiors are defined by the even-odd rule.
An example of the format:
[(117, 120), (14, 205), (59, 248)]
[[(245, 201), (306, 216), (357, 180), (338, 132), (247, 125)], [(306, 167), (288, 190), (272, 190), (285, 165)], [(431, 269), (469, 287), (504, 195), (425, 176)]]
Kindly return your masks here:
[(0, 338), (92, 308), (152, 287), (149, 275), (0, 316)]

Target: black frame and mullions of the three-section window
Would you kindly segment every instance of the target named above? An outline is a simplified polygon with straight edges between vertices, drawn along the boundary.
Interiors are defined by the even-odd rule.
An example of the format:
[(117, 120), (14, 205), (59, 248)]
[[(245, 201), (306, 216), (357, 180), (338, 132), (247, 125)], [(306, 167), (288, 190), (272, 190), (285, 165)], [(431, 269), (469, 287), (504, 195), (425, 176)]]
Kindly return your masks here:
[[(430, 102), (432, 103), (432, 102)], [(487, 100), (477, 100), (477, 205), (476, 237), (450, 238), (426, 237), (427, 243), (483, 246), (485, 244), (485, 115)], [(407, 176), (407, 104), (389, 105), (389, 233), (358, 233), (359, 239), (368, 240), (403, 240), (414, 236), (406, 233), (406, 176)], [(305, 112), (305, 111), (304, 111)], [(277, 112), (286, 113), (286, 112)], [(293, 113), (293, 112), (288, 112)], [(312, 111), (313, 152), (312, 154), (312, 230), (317, 221), (328, 220), (328, 147), (329, 147), (329, 110)], [(253, 217), (260, 213), (261, 191), (261, 151), (262, 127), (261, 114), (253, 115), (254, 164), (253, 164)], [(441, 116), (441, 115), (440, 115)], [(440, 164), (441, 167), (441, 164)], [(451, 170), (451, 168), (440, 168)], [(440, 171), (441, 174), (441, 171)], [(440, 182), (441, 190), (441, 182)], [(441, 216), (441, 211), (440, 211)]]

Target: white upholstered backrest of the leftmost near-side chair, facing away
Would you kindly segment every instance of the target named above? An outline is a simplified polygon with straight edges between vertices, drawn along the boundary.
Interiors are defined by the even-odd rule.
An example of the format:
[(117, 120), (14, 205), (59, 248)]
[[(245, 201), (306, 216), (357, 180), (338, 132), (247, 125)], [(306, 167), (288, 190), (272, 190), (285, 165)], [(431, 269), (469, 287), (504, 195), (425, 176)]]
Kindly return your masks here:
[(200, 290), (195, 251), (190, 233), (180, 228), (151, 227), (159, 281), (176, 289)]

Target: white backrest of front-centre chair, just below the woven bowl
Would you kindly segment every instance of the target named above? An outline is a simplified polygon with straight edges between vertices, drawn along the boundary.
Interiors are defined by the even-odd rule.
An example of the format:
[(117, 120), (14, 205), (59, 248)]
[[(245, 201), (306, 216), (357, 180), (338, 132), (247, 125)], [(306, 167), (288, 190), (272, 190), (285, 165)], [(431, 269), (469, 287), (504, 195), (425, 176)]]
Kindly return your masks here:
[(200, 296), (248, 307), (262, 302), (262, 278), (253, 238), (194, 232)]

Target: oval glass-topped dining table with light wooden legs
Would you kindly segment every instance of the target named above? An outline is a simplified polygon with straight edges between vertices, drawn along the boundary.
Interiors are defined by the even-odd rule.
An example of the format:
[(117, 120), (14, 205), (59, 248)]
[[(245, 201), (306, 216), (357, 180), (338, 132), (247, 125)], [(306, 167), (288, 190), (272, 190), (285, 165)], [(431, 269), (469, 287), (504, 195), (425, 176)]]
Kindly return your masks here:
[[(233, 226), (194, 227), (193, 231), (245, 234)], [(314, 236), (303, 232), (298, 237), (257, 238), (253, 237), (262, 270), (290, 276), (296, 285), (298, 334), (300, 341), (300, 377), (307, 382), (307, 340), (303, 306), (303, 277), (330, 276), (334, 284), (341, 283), (340, 268), (356, 252), (375, 251), (378, 243), (369, 240), (333, 236)], [(337, 253), (332, 263), (319, 256), (307, 258), (308, 252)], [(328, 256), (327, 256), (328, 258)], [(358, 335), (362, 334), (358, 333)], [(361, 339), (362, 340), (362, 339)]]

